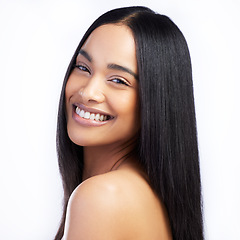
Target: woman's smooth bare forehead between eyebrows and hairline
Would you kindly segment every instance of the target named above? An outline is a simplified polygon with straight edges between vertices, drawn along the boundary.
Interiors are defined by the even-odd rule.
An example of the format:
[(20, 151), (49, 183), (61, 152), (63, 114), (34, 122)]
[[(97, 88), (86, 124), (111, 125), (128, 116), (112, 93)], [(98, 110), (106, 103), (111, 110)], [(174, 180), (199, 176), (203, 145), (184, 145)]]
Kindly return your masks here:
[[(96, 28), (82, 48), (92, 56), (93, 61), (106, 63), (125, 62), (136, 65), (136, 47), (133, 34), (125, 25), (106, 24)], [(134, 67), (136, 70), (136, 66)]]

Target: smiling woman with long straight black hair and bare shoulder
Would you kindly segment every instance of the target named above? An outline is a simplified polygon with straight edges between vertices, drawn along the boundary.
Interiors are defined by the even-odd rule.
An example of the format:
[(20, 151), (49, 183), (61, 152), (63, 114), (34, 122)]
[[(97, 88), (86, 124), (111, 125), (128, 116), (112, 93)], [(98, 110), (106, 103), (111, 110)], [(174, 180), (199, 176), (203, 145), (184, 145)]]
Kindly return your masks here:
[(191, 62), (168, 17), (128, 7), (92, 24), (63, 83), (57, 150), (56, 240), (203, 239)]

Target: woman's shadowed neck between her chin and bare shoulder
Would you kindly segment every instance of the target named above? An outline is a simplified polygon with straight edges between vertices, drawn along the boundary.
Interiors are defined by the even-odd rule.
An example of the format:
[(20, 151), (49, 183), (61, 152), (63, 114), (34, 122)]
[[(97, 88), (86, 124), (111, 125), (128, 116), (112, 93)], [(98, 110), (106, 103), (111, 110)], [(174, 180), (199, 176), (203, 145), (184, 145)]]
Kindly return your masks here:
[(87, 146), (84, 150), (83, 180), (116, 170), (124, 161), (131, 161), (133, 144), (127, 146)]

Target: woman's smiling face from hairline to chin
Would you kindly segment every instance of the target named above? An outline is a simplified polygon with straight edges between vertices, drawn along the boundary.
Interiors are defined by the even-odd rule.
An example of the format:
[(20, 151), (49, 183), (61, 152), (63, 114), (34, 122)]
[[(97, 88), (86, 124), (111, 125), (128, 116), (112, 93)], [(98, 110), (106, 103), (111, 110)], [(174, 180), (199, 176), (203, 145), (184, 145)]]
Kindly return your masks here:
[(136, 48), (130, 29), (107, 24), (82, 46), (66, 89), (67, 130), (80, 146), (124, 144), (139, 130)]

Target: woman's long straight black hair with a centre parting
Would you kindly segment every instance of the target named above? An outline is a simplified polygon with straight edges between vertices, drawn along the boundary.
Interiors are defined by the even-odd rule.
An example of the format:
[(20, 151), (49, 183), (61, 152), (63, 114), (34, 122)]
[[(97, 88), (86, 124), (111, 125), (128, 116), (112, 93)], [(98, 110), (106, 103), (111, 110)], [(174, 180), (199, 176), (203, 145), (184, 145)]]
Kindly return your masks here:
[(63, 83), (57, 125), (57, 152), (64, 187), (64, 210), (55, 240), (64, 232), (66, 208), (82, 182), (83, 148), (68, 137), (65, 86), (77, 54), (97, 27), (121, 23), (134, 36), (139, 75), (139, 163), (164, 203), (173, 239), (202, 240), (201, 182), (191, 60), (186, 40), (167, 17), (146, 7), (126, 7), (100, 16), (77, 47)]

